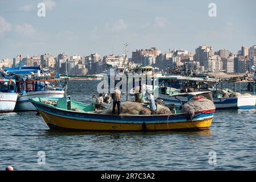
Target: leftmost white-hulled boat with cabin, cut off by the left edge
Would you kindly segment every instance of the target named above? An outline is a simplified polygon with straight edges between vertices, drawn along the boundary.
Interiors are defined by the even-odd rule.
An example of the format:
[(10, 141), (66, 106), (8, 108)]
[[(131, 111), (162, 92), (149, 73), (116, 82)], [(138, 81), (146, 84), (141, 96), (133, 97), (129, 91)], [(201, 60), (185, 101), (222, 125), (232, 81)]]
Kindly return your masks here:
[(0, 78), (0, 88), (0, 113), (12, 112), (18, 98), (15, 80)]

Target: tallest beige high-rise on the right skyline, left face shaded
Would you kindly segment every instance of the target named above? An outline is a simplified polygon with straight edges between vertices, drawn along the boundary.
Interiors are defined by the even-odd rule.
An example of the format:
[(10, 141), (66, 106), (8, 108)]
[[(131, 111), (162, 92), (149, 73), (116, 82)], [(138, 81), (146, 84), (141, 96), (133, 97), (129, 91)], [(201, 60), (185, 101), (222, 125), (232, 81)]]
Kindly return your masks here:
[(205, 65), (206, 60), (209, 56), (213, 55), (212, 46), (200, 46), (196, 48), (196, 54), (194, 55), (194, 61), (199, 61), (201, 66)]

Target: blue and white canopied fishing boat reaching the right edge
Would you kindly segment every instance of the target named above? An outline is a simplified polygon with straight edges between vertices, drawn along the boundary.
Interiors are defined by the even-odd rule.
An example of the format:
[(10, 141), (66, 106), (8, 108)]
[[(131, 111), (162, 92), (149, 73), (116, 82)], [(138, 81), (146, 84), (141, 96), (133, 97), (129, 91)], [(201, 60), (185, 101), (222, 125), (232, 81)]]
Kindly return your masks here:
[[(165, 80), (171, 80), (172, 77), (165, 78)], [(213, 102), (216, 105), (216, 109), (253, 109), (256, 104), (256, 96), (250, 94), (236, 96), (239, 86), (234, 86), (234, 90), (230, 90), (230, 97), (223, 97), (224, 89), (222, 88), (223, 82), (231, 82), (234, 85), (245, 82), (253, 82), (252, 80), (218, 80), (217, 78), (197, 78), (197, 77), (182, 77), (178, 76), (176, 80), (184, 82), (182, 89), (177, 90), (163, 86), (159, 91), (159, 99), (163, 100), (166, 104), (180, 105), (188, 102), (187, 97), (176, 96), (175, 94), (184, 92), (184, 90), (193, 88), (198, 91), (210, 90), (213, 93)], [(221, 88), (217, 86), (221, 85)], [(185, 91), (188, 92), (188, 91)]]

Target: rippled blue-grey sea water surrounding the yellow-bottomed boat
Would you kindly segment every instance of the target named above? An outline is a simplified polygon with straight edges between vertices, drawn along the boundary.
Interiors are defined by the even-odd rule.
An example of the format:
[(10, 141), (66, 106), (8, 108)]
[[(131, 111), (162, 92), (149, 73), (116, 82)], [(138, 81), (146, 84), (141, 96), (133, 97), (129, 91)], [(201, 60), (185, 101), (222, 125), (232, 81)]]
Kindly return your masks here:
[[(98, 82), (70, 81), (68, 94), (91, 102)], [(36, 112), (0, 123), (0, 170), (256, 170), (256, 109), (216, 111), (209, 131), (186, 133), (56, 132)]]

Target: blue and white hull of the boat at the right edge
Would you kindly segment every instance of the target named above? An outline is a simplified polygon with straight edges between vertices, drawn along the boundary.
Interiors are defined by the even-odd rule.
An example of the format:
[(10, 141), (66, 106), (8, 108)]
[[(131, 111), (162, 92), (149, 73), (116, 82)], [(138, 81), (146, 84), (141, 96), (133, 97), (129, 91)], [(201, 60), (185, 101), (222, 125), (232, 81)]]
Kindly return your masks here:
[[(180, 101), (178, 101), (173, 96), (165, 96), (160, 94), (159, 98), (165, 103), (174, 104), (180, 106)], [(182, 101), (182, 104), (188, 102), (187, 97), (177, 97)], [(256, 104), (256, 96), (241, 96), (241, 97), (229, 97), (229, 98), (214, 98), (214, 105), (216, 109), (253, 109)]]

